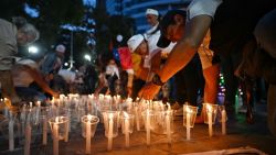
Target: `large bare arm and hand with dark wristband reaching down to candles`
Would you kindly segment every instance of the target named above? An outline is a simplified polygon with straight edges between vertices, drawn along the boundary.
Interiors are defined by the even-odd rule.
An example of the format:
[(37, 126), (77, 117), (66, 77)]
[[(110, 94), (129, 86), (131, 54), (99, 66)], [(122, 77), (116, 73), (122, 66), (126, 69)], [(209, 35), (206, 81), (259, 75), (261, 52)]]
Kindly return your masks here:
[[(211, 16), (198, 15), (187, 23), (185, 34), (173, 47), (164, 66), (158, 73), (161, 81), (167, 81), (192, 59), (210, 29), (211, 22)], [(150, 82), (141, 89), (139, 95), (141, 98), (152, 99), (159, 89), (160, 86)]]

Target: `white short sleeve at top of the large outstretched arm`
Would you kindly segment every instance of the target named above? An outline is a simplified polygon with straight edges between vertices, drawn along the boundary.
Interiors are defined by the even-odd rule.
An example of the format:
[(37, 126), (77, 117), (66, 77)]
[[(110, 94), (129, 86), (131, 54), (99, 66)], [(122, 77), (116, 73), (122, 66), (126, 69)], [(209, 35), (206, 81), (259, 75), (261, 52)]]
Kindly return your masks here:
[(214, 18), (214, 13), (222, 0), (193, 0), (187, 9), (187, 21), (198, 15), (210, 15)]

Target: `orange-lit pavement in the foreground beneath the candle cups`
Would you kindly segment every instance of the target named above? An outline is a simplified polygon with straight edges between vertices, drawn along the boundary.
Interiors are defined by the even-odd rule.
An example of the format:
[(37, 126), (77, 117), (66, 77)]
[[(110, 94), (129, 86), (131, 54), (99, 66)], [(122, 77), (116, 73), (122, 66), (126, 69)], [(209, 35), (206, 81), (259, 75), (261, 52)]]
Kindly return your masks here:
[[(206, 124), (195, 124), (191, 129), (191, 140), (185, 140), (185, 129), (182, 126), (182, 117), (174, 118), (174, 133), (172, 144), (167, 144), (167, 136), (162, 134), (151, 134), (151, 145), (146, 145), (146, 132), (135, 131), (130, 134), (130, 147), (125, 147), (125, 136), (119, 133), (114, 139), (112, 151), (107, 151), (107, 139), (104, 135), (103, 124), (98, 124), (92, 142), (92, 154), (94, 155), (177, 155), (189, 153), (202, 153), (209, 151), (221, 151), (240, 147), (256, 148), (268, 155), (276, 155), (276, 137), (267, 128), (266, 104), (257, 104), (254, 114), (255, 123), (247, 124), (244, 113), (229, 113), (227, 133), (222, 135), (221, 125), (216, 123), (213, 128), (214, 135), (209, 136)], [(85, 154), (85, 139), (81, 135), (81, 124), (72, 124), (70, 141), (60, 142), (61, 155), (83, 155)], [(120, 130), (119, 130), (120, 131)], [(51, 155), (52, 139), (49, 136), (49, 144), (41, 145), (40, 135), (31, 146), (32, 155)], [(8, 141), (1, 136), (0, 155), (21, 155), (23, 146), (15, 143), (15, 151), (8, 151)]]

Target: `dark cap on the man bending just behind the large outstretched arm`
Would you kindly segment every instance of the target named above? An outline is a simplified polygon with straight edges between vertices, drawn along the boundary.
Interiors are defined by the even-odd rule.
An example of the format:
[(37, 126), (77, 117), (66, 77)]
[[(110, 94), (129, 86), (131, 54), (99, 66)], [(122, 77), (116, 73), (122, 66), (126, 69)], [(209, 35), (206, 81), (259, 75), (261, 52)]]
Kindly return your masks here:
[(185, 19), (185, 11), (184, 10), (170, 10), (168, 11), (163, 18), (161, 19), (160, 23), (159, 23), (159, 26), (160, 26), (160, 31), (162, 34), (166, 33), (167, 31), (167, 27), (171, 24), (176, 24), (176, 21), (174, 21), (174, 15), (177, 14), (180, 14), (182, 15), (184, 19)]

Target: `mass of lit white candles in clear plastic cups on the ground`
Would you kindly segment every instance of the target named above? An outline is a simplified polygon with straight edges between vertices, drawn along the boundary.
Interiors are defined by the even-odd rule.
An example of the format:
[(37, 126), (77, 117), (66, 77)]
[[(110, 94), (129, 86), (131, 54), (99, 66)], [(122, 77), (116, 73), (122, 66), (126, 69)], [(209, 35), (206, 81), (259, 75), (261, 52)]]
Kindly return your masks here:
[[(42, 144), (46, 145), (49, 122), (53, 137), (53, 154), (57, 155), (59, 141), (68, 141), (72, 109), (75, 110), (77, 121), (82, 121), (82, 134), (86, 139), (86, 154), (91, 154), (91, 139), (94, 136), (97, 123), (99, 121), (102, 121), (105, 126), (105, 136), (108, 140), (108, 151), (112, 150), (113, 139), (118, 135), (119, 126), (125, 134), (126, 147), (129, 147), (129, 134), (132, 133), (135, 123), (137, 131), (140, 131), (141, 128), (145, 126), (147, 145), (150, 145), (151, 131), (167, 134), (168, 143), (172, 143), (171, 135), (173, 133), (173, 111), (171, 110), (170, 104), (166, 106), (159, 101), (146, 100), (132, 102), (131, 99), (126, 99), (124, 103), (121, 102), (123, 101), (119, 96), (112, 98), (110, 96), (100, 95), (99, 97), (95, 98), (94, 96), (82, 97), (78, 95), (71, 95), (68, 97), (61, 96), (60, 99), (53, 99), (51, 101), (51, 106), (46, 108), (42, 108), (40, 102), (36, 103), (36, 107), (33, 107), (32, 103), (30, 103), (29, 107), (24, 106), (20, 112), (20, 120), (24, 126), (22, 129), (25, 130), (23, 132), (25, 133), (24, 154), (30, 154), (32, 133), (31, 122), (33, 124), (38, 124), (40, 123), (40, 118), (42, 118)], [(225, 134), (226, 113), (223, 106), (220, 106), (220, 110), (222, 132)], [(202, 111), (204, 115), (204, 122), (209, 124), (209, 135), (212, 136), (212, 125), (215, 122), (217, 104), (203, 103)], [(7, 109), (3, 113), (7, 114)], [(89, 114), (85, 115), (85, 113)], [(191, 128), (194, 125), (197, 113), (197, 107), (188, 104), (183, 106), (183, 126), (187, 129), (187, 140), (191, 139)], [(12, 114), (10, 113), (10, 115), (7, 117), (9, 118), (9, 148), (10, 151), (13, 151), (13, 125), (15, 117), (11, 115)], [(97, 115), (99, 115), (99, 118)]]

